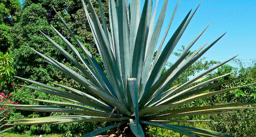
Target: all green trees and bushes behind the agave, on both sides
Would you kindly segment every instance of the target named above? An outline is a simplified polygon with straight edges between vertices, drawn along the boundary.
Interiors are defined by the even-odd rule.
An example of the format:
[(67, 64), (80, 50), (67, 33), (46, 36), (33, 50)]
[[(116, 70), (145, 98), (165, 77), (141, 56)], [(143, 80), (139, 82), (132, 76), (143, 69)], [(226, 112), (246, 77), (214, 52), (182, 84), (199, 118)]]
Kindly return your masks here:
[[(98, 1), (91, 0), (96, 8), (96, 12), (100, 14), (97, 8)], [(107, 24), (108, 20), (108, 0), (102, 0), (103, 7), (105, 9)], [(53, 95), (45, 94), (30, 89), (23, 89), (19, 84), (21, 81), (14, 79), (12, 75), (27, 78), (30, 80), (38, 81), (41, 83), (50, 84), (50, 82), (59, 83), (62, 85), (70, 86), (75, 89), (87, 92), (82, 86), (77, 84), (69, 77), (63, 75), (52, 66), (37, 56), (30, 50), (29, 47), (34, 48), (40, 53), (52, 56), (66, 66), (69, 66), (73, 70), (76, 68), (56, 49), (50, 42), (40, 35), (39, 30), (46, 33), (54, 41), (56, 41), (62, 48), (69, 51), (68, 47), (56, 36), (50, 25), (58, 29), (62, 35), (67, 36), (68, 40), (71, 40), (73, 45), (76, 45), (64, 26), (56, 18), (55, 12), (52, 10), (55, 8), (59, 14), (64, 18), (69, 27), (73, 30), (76, 37), (86, 46), (86, 48), (93, 54), (98, 62), (101, 62), (96, 45), (93, 42), (93, 36), (90, 33), (90, 27), (85, 20), (85, 13), (81, 7), (80, 0), (24, 0), (23, 5), (18, 0), (0, 0), (0, 92), (1, 103), (8, 104), (40, 104), (38, 102), (28, 101), (24, 98), (38, 98), (38, 99), (50, 99), (55, 101), (62, 100)], [(181, 47), (175, 56), (184, 50), (184, 46)], [(192, 54), (193, 52), (190, 52)], [(226, 89), (235, 86), (242, 86), (249, 83), (256, 82), (256, 62), (251, 60), (250, 63), (246, 63), (241, 60), (234, 60), (238, 67), (234, 68), (229, 65), (224, 65), (215, 72), (211, 73), (209, 80), (213, 77), (218, 77), (229, 72), (233, 74), (219, 79), (216, 83), (230, 80), (235, 77), (244, 76), (239, 80), (233, 81), (218, 86), (211, 91), (220, 89)], [(206, 57), (198, 60), (187, 71), (180, 76), (180, 78), (173, 83), (172, 86), (185, 83), (189, 78), (196, 75), (198, 72), (208, 69), (214, 64), (219, 62), (211, 60), (207, 61)], [(100, 65), (103, 65), (102, 62)], [(166, 65), (163, 73), (171, 66), (172, 63)], [(215, 84), (215, 82), (210, 83)], [(207, 86), (207, 85), (206, 85)], [(171, 87), (171, 86), (170, 86)], [(6, 97), (7, 96), (7, 97)], [(185, 104), (184, 107), (204, 106), (204, 105), (216, 105), (226, 104), (231, 102), (255, 102), (256, 101), (256, 87), (250, 86), (242, 89), (237, 89), (221, 95), (215, 95), (210, 98), (200, 99), (197, 102), (191, 102)], [(7, 108), (0, 108), (7, 109)], [(7, 119), (22, 119), (32, 117), (54, 116), (60, 115), (60, 113), (43, 113), (34, 111), (20, 111), (9, 109), (4, 116)], [(184, 125), (192, 125), (197, 127), (203, 127), (206, 129), (212, 129), (215, 131), (223, 132), (226, 134), (234, 135), (236, 137), (255, 137), (256, 136), (256, 110), (239, 110), (233, 114), (216, 114), (205, 116), (188, 116), (189, 120), (203, 120), (212, 119), (209, 122), (197, 122), (197, 123), (184, 123)], [(99, 129), (108, 123), (69, 123), (64, 125), (32, 125), (32, 126), (17, 126), (12, 129), (11, 133), (19, 133), (26, 135), (40, 135), (40, 134), (63, 134), (65, 137), (76, 137), (81, 134), (90, 132), (94, 129)], [(175, 123), (180, 124), (180, 123)], [(161, 128), (148, 127), (148, 132), (156, 137), (163, 136), (179, 136), (169, 130)], [(15, 137), (17, 134), (10, 134), (10, 137)], [(17, 135), (18, 136), (18, 135)], [(22, 137), (22, 135), (20, 135)], [(24, 136), (24, 135), (23, 135)], [(55, 135), (56, 136), (56, 135)], [(50, 136), (49, 136), (50, 137)]]

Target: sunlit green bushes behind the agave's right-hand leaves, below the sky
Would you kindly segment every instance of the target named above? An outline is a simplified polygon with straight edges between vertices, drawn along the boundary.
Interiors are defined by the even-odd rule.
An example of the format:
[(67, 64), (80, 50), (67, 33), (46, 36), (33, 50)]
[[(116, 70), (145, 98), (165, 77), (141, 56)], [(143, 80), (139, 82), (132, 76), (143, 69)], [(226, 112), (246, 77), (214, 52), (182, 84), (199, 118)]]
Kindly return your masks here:
[[(223, 65), (218, 68), (216, 72), (209, 74), (204, 81), (209, 80), (213, 77), (218, 77), (230, 72), (233, 74), (226, 77), (220, 78), (210, 84), (219, 83), (226, 80), (231, 80), (236, 77), (244, 76), (238, 80), (231, 83), (227, 83), (216, 88), (210, 89), (207, 92), (227, 89), (230, 87), (242, 86), (249, 83), (255, 83), (255, 62), (251, 66), (239, 66), (235, 68), (229, 65)], [(207, 86), (207, 85), (206, 85)], [(244, 87), (237, 90), (232, 90), (230, 92), (222, 93), (220, 95), (215, 95), (209, 98), (200, 99), (196, 102), (191, 102), (184, 104), (184, 107), (199, 107), (206, 105), (218, 105), (227, 103), (238, 103), (238, 102), (255, 102), (256, 86)], [(255, 105), (252, 105), (252, 107)], [(213, 131), (222, 132), (225, 134), (233, 135), (235, 137), (255, 137), (256, 136), (256, 110), (238, 110), (236, 113), (230, 114), (212, 114), (204, 116), (187, 116), (184, 117), (187, 120), (206, 120), (212, 119), (209, 122), (194, 122), (194, 123), (172, 123), (178, 125), (195, 126), (204, 129), (210, 129)], [(178, 134), (174, 132), (161, 129), (161, 128), (149, 128), (151, 134), (155, 134), (156, 137), (179, 137)]]

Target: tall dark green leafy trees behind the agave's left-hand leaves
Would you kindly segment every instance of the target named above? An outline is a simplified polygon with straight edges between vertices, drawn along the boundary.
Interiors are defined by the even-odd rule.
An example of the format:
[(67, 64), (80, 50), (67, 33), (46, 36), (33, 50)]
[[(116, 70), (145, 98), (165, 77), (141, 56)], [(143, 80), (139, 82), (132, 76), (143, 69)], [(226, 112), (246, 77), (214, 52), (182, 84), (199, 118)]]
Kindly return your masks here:
[[(17, 2), (20, 3), (19, 1)], [(93, 2), (95, 5), (96, 0)], [(72, 40), (70, 39), (71, 36), (67, 30), (64, 29), (63, 24), (59, 23), (59, 19), (56, 13), (52, 10), (52, 8), (61, 8), (59, 14), (64, 17), (66, 23), (71, 26), (72, 30), (74, 30), (76, 37), (82, 43), (84, 43), (86, 48), (92, 54), (94, 54), (94, 57), (96, 57), (96, 60), (100, 62), (100, 65), (103, 65), (98, 50), (96, 49), (96, 45), (94, 44), (93, 36), (89, 32), (90, 27), (88, 26), (88, 23), (84, 23), (84, 21), (82, 21), (82, 18), (85, 18), (85, 14), (83, 9), (81, 9), (82, 7), (79, 5), (81, 5), (80, 1), (72, 0), (65, 2), (52, 0), (25, 0), (22, 9), (14, 9), (14, 11), (8, 14), (16, 14), (17, 16), (13, 16), (11, 18), (12, 22), (5, 22), (4, 24), (0, 25), (0, 46), (3, 47), (0, 48), (0, 51), (3, 50), (3, 52), (5, 52), (9, 48), (8, 51), (14, 59), (12, 68), (15, 68), (15, 75), (37, 80), (42, 83), (49, 83), (49, 81), (51, 81), (54, 83), (63, 84), (65, 86), (70, 86), (84, 92), (88, 92), (84, 87), (80, 86), (71, 78), (63, 75), (58, 70), (53, 69), (52, 66), (48, 65), (44, 60), (42, 60), (34, 52), (32, 52), (32, 50), (30, 50), (30, 48), (33, 48), (42, 53), (46, 53), (49, 56), (54, 56), (66, 66), (69, 66), (73, 70), (78, 71), (78, 69), (76, 69), (65, 56), (63, 56), (56, 48), (53, 48), (53, 45), (50, 44), (50, 42), (45, 41), (45, 38), (40, 34), (40, 32), (38, 32), (39, 30), (47, 32), (47, 35), (50, 36), (50, 38), (54, 39), (59, 45), (61, 45), (61, 47), (70, 52), (70, 49), (63, 41), (60, 40), (58, 36), (55, 35), (52, 27), (50, 27), (50, 25), (56, 27), (56, 29), (61, 31), (62, 35), (66, 35), (67, 39)], [(102, 5), (106, 7), (108, 3), (102, 3)], [(77, 7), (69, 8), (73, 6)], [(66, 8), (65, 11), (63, 11), (62, 8)], [(99, 12), (99, 8), (97, 11)], [(108, 8), (105, 8), (104, 12), (107, 13), (107, 11)], [(107, 17), (106, 20), (108, 21)], [(11, 23), (15, 23), (15, 25), (13, 26)], [(73, 44), (75, 41), (72, 40), (71, 42)], [(75, 45), (75, 47), (77, 48), (78, 46)], [(10, 82), (14, 83), (15, 85), (11, 86)], [(20, 86), (18, 86), (18, 84), (21, 84), (21, 81), (10, 80), (10, 82), (3, 84), (3, 86), (6, 87), (5, 89), (2, 88), (2, 90), (8, 94), (12, 92), (14, 102), (18, 102), (20, 104), (37, 104), (35, 101), (27, 101), (24, 99), (24, 97), (35, 97), (60, 101), (60, 99), (56, 96), (46, 95), (45, 93), (41, 92), (34, 92), (34, 90), (29, 90), (26, 88), (22, 88), (20, 90)], [(49, 113), (45, 112), (23, 112), (20, 110), (11, 110), (9, 114), (10, 115), (8, 118), (11, 119), (49, 116)], [(90, 132), (91, 130), (95, 129), (96, 126), (99, 125), (95, 123), (70, 123), (65, 125), (17, 126), (16, 128), (12, 129), (11, 132), (28, 132), (29, 134), (49, 134), (51, 132), (58, 132), (63, 133), (67, 137), (74, 137), (75, 135)]]

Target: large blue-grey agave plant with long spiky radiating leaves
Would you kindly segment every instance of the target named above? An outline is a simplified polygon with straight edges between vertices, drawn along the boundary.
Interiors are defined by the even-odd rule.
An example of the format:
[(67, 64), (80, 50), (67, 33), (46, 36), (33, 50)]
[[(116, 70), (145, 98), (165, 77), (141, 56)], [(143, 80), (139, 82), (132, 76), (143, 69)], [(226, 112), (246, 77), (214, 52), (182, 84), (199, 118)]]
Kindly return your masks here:
[[(81, 48), (82, 53), (79, 53), (78, 50), (76, 50), (76, 48), (70, 44), (69, 41), (67, 41), (65, 36), (62, 36), (61, 33), (58, 32), (58, 30), (56, 30), (54, 27), (52, 28), (73, 51), (79, 60), (75, 60), (74, 57), (70, 55), (70, 53), (63, 50), (62, 47), (60, 47), (48, 36), (46, 36), (43, 32), (41, 33), (48, 41), (50, 41), (56, 48), (58, 48), (58, 50), (61, 51), (61, 53), (64, 54), (64, 56), (66, 56), (67, 59), (69, 59), (70, 62), (72, 62), (81, 71), (82, 74), (78, 74), (62, 63), (59, 63), (52, 57), (45, 56), (33, 49), (32, 50), (46, 59), (50, 65), (54, 66), (56, 69), (84, 86), (91, 94), (89, 95), (77, 89), (56, 83), (52, 83), (56, 86), (53, 87), (38, 83), (36, 81), (17, 77), (21, 80), (39, 85), (43, 88), (24, 85), (20, 86), (52, 95), (57, 95), (63, 99), (66, 99), (67, 102), (28, 98), (33, 101), (46, 102), (62, 107), (46, 105), (7, 106), (15, 107), (18, 110), (74, 113), (74, 115), (11, 120), (17, 123), (12, 123), (9, 125), (32, 125), (47, 123), (63, 124), (72, 122), (107, 121), (116, 122), (116, 124), (95, 130), (83, 135), (82, 137), (93, 137), (94, 135), (112, 128), (116, 128), (117, 126), (124, 123), (129, 123), (130, 129), (133, 134), (136, 135), (136, 137), (144, 137), (143, 129), (141, 126), (142, 124), (170, 129), (190, 137), (229, 137), (230, 135), (215, 131), (209, 131), (206, 129), (189, 126), (172, 125), (171, 123), (197, 122), (197, 120), (183, 120), (182, 117), (184, 116), (233, 113), (234, 111), (232, 110), (252, 108), (246, 106), (253, 103), (235, 103), (188, 108), (179, 107), (185, 103), (196, 101), (197, 99), (207, 98), (209, 96), (221, 94), (230, 90), (256, 84), (253, 83), (215, 92), (207, 92), (207, 90), (216, 86), (220, 86), (240, 78), (238, 77), (232, 80), (223, 81), (207, 86), (207, 84), (218, 80), (219, 78), (225, 77), (229, 75), (229, 73), (200, 82), (207, 77), (204, 77), (205, 75), (212, 72), (221, 65), (229, 62), (234, 57), (219, 63), (216, 66), (213, 66), (212, 68), (202, 72), (197, 77), (192, 78), (186, 83), (168, 89), (168, 87), (187, 68), (189, 68), (189, 66), (196, 62), (204, 53), (206, 53), (207, 50), (209, 50), (209, 48), (211, 48), (219, 39), (221, 39), (222, 36), (224, 36), (224, 34), (221, 35), (206, 48), (204, 48), (204, 46), (207, 43), (204, 44), (193, 54), (188, 56), (190, 48), (204, 33), (209, 24), (187, 46), (183, 53), (180, 54), (177, 61), (165, 72), (165, 74), (161, 76), (169, 56), (183, 35), (185, 29), (187, 28), (190, 20), (192, 19), (200, 4), (197, 6), (194, 12), (191, 13), (191, 10), (189, 11), (184, 20), (181, 21), (180, 26), (178, 26), (177, 30), (168, 40), (167, 44), (163, 48), (163, 51), (161, 51), (163, 43), (166, 39), (166, 35), (177, 11), (180, 0), (178, 1), (162, 41), (160, 42), (160, 46), (157, 50), (154, 62), (152, 63), (152, 58), (154, 56), (155, 48), (166, 15), (168, 0), (165, 0), (163, 3), (163, 7), (155, 24), (154, 30), (153, 28), (158, 7), (158, 0), (155, 4), (154, 11), (152, 9), (152, 0), (145, 0), (142, 13), (140, 12), (140, 0), (130, 0), (129, 5), (127, 4), (126, 0), (117, 0), (116, 2), (114, 0), (109, 0), (110, 28), (107, 28), (105, 22), (101, 0), (99, 0), (99, 7), (101, 9), (102, 22), (100, 22), (99, 18), (97, 17), (91, 1), (87, 0), (87, 2), (88, 5), (85, 5), (84, 0), (82, 0), (86, 17), (90, 24), (91, 32), (93, 33), (95, 44), (97, 45), (99, 53), (102, 57), (107, 74), (104, 73), (103, 69), (94, 59), (93, 55), (78, 39), (76, 39), (70, 28), (56, 12), (72, 38), (75, 40), (76, 44), (79, 46), (79, 48)], [(87, 6), (90, 9), (90, 15)], [(82, 54), (84, 56), (82, 56)], [(86, 57), (88, 62), (84, 57)], [(166, 122), (169, 122), (170, 124), (163, 124)]]

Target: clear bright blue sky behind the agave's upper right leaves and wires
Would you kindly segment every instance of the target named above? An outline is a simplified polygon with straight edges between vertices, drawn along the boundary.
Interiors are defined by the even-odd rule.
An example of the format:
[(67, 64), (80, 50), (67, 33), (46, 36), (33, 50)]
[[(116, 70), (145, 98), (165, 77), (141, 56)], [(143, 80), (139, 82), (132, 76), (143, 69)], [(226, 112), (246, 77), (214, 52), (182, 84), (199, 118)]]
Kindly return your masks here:
[[(155, 3), (156, 0), (153, 0)], [(207, 1), (207, 2), (205, 2)], [(144, 0), (142, 0), (144, 2)], [(164, 0), (159, 0), (158, 5), (163, 5)], [(171, 18), (171, 14), (175, 8), (178, 0), (169, 0), (168, 11), (163, 24), (163, 29), (160, 34), (163, 36), (165, 29)], [(200, 0), (181, 0), (175, 15), (174, 21), (169, 30), (167, 40), (171, 38), (178, 25), (181, 23), (183, 18), (192, 9), (197, 7)], [(160, 14), (161, 6), (158, 7), (157, 15)], [(241, 9), (251, 8), (251, 9)], [(226, 9), (240, 9), (230, 11), (218, 11)], [(184, 32), (183, 36), (178, 42), (174, 51), (177, 51), (181, 45), (185, 47), (207, 26), (206, 32), (201, 38), (194, 44), (191, 50), (197, 50), (205, 42), (209, 41), (207, 45), (212, 43), (215, 39), (227, 32), (222, 39), (220, 39), (209, 51), (204, 54), (207, 60), (225, 61), (230, 57), (237, 54), (237, 59), (247, 60), (255, 59), (256, 57), (256, 0), (202, 0), (200, 7), (192, 18), (189, 26)], [(216, 11), (216, 12), (204, 12), (204, 11)], [(156, 22), (157, 20), (155, 20)], [(161, 41), (161, 40), (160, 40)], [(165, 41), (165, 44), (168, 41)], [(158, 42), (159, 45), (160, 42)], [(165, 45), (164, 44), (164, 45)], [(158, 47), (157, 47), (158, 48)], [(171, 55), (169, 61), (174, 62), (177, 57)], [(230, 63), (230, 65), (234, 65)]]

